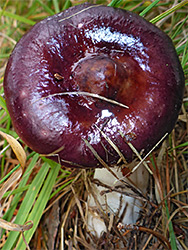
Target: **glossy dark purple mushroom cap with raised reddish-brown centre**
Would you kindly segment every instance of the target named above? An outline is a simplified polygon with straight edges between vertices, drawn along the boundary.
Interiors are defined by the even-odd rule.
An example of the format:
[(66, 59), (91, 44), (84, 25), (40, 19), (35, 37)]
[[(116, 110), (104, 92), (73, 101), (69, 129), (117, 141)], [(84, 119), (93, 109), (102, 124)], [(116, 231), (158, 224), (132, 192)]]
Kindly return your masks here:
[[(106, 166), (118, 174), (116, 166), (131, 163), (132, 148), (146, 155), (172, 131), (184, 75), (160, 29), (135, 13), (84, 3), (20, 39), (4, 91), (14, 128), (31, 149), (103, 176)], [(133, 179), (147, 184), (147, 170), (140, 171)]]

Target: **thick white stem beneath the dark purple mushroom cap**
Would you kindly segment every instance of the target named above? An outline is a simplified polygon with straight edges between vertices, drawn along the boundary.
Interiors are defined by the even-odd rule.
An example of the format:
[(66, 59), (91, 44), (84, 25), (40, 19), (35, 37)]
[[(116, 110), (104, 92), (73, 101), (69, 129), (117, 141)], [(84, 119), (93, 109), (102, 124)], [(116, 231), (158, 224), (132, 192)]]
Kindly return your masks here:
[[(130, 184), (128, 178), (125, 178), (120, 170), (115, 168), (111, 170), (119, 179), (122, 179)], [(102, 232), (107, 232), (107, 227), (104, 223), (104, 220), (102, 219), (102, 216), (100, 216), (101, 213), (98, 212), (98, 205), (100, 205), (106, 216), (110, 216), (110, 219), (118, 216), (118, 218), (121, 217), (120, 222), (124, 225), (134, 224), (138, 219), (139, 211), (142, 206), (141, 199), (121, 194), (121, 192), (131, 192), (131, 190), (127, 187), (124, 187), (123, 183), (118, 181), (116, 177), (106, 168), (96, 169), (94, 173), (94, 179), (112, 188), (121, 185), (121, 189), (119, 189), (120, 192), (103, 192), (105, 194), (101, 195), (101, 191), (106, 191), (107, 188), (103, 187), (102, 185), (92, 184), (95, 199), (92, 195), (90, 195), (88, 198), (88, 228), (90, 232), (97, 237), (100, 237)], [(149, 174), (143, 165), (141, 165), (133, 174), (131, 174), (129, 179), (132, 183), (134, 183), (136, 188), (139, 188), (143, 194), (146, 193)], [(96, 199), (99, 202), (98, 205), (96, 204)]]

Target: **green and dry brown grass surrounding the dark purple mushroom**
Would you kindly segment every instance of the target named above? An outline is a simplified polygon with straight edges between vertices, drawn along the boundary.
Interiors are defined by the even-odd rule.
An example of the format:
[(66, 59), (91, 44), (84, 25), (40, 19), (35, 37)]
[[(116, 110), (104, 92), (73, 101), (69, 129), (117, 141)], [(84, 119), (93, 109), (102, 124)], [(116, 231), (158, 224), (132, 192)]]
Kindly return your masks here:
[[(88, 233), (87, 197), (92, 170), (73, 170), (32, 152), (19, 140), (7, 112), (3, 76), (16, 42), (37, 21), (82, 1), (3, 1), (0, 6), (0, 248), (12, 249), (186, 249), (188, 1), (93, 1), (134, 11), (155, 23), (173, 40), (185, 77), (184, 101), (175, 129), (146, 160), (152, 172), (148, 196), (136, 225), (123, 225), (103, 213), (107, 233), (100, 239)], [(59, 76), (58, 76), (59, 77)], [(169, 114), (170, 115), (170, 114)], [(10, 137), (6, 134), (11, 135)], [(17, 145), (20, 142), (23, 150)], [(25, 155), (26, 154), (26, 163)], [(21, 164), (21, 167), (19, 165)], [(105, 187), (104, 187), (105, 188)], [(140, 196), (129, 187), (130, 195)], [(110, 190), (109, 190), (110, 192)], [(105, 195), (105, 193), (103, 194)], [(58, 213), (57, 213), (58, 211)], [(8, 222), (11, 222), (8, 223)], [(53, 231), (53, 234), (51, 232)], [(88, 240), (88, 235), (92, 241)], [(134, 241), (130, 241), (130, 237)], [(95, 244), (94, 244), (95, 243)]]

